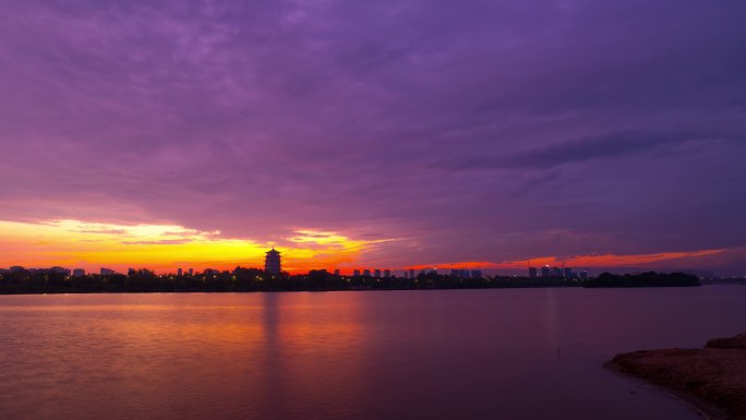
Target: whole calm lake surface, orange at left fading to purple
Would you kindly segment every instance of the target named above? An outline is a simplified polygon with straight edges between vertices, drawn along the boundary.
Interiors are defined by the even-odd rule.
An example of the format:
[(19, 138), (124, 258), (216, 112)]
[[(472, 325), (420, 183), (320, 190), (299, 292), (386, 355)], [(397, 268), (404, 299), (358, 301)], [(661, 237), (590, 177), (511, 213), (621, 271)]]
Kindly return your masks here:
[(746, 287), (0, 296), (0, 419), (697, 419), (601, 364), (746, 332)]

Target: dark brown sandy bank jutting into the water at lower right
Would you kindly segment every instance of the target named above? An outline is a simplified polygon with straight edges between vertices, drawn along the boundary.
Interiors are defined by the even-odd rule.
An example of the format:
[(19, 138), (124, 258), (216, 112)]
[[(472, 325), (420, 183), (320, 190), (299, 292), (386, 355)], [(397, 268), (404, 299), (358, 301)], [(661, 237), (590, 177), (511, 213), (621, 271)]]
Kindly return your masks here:
[(605, 365), (662, 387), (706, 418), (746, 420), (746, 334), (701, 349), (622, 353)]

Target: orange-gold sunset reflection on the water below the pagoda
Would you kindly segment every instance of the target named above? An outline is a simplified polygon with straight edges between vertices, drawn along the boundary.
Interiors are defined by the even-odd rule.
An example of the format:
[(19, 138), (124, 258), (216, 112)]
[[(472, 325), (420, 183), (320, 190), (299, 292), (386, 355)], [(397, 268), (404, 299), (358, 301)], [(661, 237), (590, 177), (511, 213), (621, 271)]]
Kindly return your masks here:
[[(313, 409), (326, 397), (325, 384), (354, 382), (364, 328), (357, 299), (324, 308), (313, 304), (321, 295), (308, 295), (294, 293), (289, 303), (279, 293), (101, 296), (99, 301), (37, 296), (0, 305), (4, 316), (34, 324), (11, 332), (15, 341), (5, 349), (23, 359), (20, 375), (40, 381), (37, 391), (48, 397), (46, 405), (21, 405), (13, 413), (49, 415), (63, 398), (60, 386), (80, 391), (63, 398), (70, 418), (86, 416), (91, 395), (112, 410), (171, 407), (188, 417), (207, 415), (215, 393), (244, 399), (257, 413)], [(38, 358), (53, 364), (32, 362)], [(0, 379), (11, 380), (12, 371)], [(278, 395), (302, 398), (288, 405)]]

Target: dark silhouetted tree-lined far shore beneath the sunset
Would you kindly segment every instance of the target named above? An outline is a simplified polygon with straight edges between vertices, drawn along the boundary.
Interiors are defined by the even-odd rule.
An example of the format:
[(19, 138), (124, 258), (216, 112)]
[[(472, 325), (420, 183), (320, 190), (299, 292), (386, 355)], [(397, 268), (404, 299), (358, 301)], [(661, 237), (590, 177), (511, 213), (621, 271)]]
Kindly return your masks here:
[(195, 275), (156, 275), (139, 271), (129, 275), (79, 275), (17, 271), (0, 275), (0, 295), (91, 293), (91, 292), (256, 292), (333, 290), (431, 290), (507, 288), (634, 288), (697, 287), (696, 276), (684, 273), (641, 273), (617, 276), (604, 273), (595, 278), (576, 277), (458, 277), (437, 273), (417, 277), (340, 276), (326, 271), (308, 275), (267, 274), (256, 268), (232, 272), (209, 271)]

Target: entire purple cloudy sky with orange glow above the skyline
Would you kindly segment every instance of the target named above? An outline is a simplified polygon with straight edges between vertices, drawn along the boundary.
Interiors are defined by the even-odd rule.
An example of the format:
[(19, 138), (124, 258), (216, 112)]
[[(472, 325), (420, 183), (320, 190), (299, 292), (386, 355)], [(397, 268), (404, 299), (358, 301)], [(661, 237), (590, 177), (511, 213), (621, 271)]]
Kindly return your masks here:
[(0, 7), (0, 267), (746, 273), (746, 2)]

